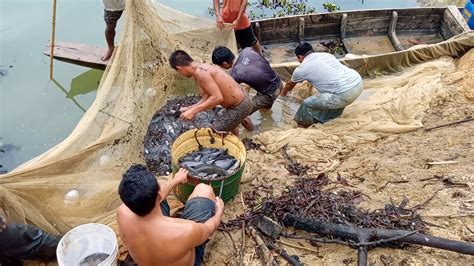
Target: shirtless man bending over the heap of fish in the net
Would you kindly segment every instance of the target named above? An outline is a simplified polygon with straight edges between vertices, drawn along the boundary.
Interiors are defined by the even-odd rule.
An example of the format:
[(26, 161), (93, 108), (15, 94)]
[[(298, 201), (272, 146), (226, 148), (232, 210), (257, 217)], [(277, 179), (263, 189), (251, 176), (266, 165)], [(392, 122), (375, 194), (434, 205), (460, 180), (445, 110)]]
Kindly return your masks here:
[(181, 118), (193, 119), (197, 113), (213, 109), (217, 105), (224, 107), (216, 116), (211, 127), (217, 132), (232, 132), (239, 135), (239, 124), (246, 120), (251, 125), (248, 115), (253, 110), (252, 100), (240, 85), (219, 67), (196, 63), (182, 50), (174, 51), (169, 63), (172, 68), (185, 77), (196, 81), (201, 100), (191, 106), (181, 108)]

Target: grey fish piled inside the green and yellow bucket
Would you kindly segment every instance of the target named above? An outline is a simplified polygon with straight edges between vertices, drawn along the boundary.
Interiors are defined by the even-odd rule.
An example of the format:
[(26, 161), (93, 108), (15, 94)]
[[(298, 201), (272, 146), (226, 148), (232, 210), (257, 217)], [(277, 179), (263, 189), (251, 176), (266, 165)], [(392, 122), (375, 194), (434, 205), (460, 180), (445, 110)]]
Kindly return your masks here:
[(240, 161), (228, 154), (226, 148), (202, 148), (179, 159), (179, 166), (201, 180), (213, 180), (235, 173)]

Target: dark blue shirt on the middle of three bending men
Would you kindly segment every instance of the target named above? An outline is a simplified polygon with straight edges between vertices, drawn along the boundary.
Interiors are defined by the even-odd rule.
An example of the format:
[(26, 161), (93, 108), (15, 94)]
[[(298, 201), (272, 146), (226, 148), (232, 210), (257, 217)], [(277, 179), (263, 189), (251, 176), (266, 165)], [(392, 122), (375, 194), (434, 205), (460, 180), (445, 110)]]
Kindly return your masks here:
[(229, 73), (238, 83), (245, 83), (263, 94), (273, 94), (281, 84), (270, 63), (252, 47), (244, 48)]

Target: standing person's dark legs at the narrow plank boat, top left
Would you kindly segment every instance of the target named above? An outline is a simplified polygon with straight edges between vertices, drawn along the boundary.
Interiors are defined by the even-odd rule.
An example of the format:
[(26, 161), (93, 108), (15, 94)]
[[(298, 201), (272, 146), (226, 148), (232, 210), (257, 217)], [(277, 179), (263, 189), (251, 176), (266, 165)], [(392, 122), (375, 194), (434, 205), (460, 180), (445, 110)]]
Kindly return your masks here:
[(107, 52), (102, 56), (102, 61), (107, 61), (115, 49), (115, 28), (117, 21), (125, 9), (125, 0), (102, 0), (104, 3), (105, 40), (107, 41)]

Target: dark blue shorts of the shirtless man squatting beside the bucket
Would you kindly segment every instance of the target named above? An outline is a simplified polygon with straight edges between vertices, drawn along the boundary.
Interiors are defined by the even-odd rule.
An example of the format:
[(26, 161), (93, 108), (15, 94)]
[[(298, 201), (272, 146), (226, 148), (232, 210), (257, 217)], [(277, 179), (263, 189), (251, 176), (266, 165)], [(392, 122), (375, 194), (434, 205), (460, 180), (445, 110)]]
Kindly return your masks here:
[[(160, 207), (163, 215), (170, 216), (170, 206), (168, 205), (168, 201), (162, 201), (160, 203)], [(212, 216), (214, 216), (215, 208), (216, 205), (211, 199), (205, 197), (195, 197), (186, 202), (181, 218), (195, 221), (196, 223), (205, 223)], [(201, 265), (204, 259), (204, 249), (206, 248), (206, 243), (207, 241), (195, 248), (195, 266)]]

